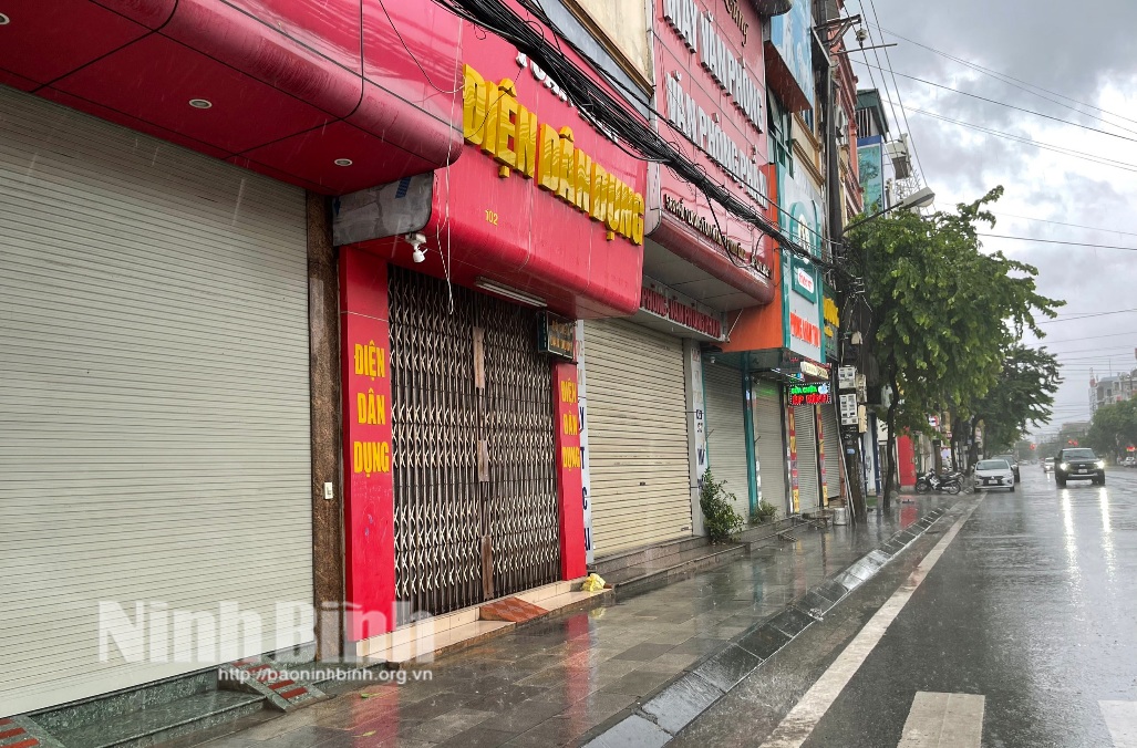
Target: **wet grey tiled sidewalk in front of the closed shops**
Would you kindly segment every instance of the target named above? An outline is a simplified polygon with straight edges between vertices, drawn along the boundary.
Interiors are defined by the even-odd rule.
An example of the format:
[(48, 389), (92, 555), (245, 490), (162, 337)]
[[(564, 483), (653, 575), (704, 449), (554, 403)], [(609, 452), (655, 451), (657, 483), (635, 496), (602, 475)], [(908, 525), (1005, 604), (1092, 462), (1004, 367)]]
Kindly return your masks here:
[[(641, 700), (935, 506), (798, 540), (616, 605), (521, 626), (437, 662), (213, 740), (208, 748), (563, 746)], [(432, 679), (416, 681), (416, 672)]]

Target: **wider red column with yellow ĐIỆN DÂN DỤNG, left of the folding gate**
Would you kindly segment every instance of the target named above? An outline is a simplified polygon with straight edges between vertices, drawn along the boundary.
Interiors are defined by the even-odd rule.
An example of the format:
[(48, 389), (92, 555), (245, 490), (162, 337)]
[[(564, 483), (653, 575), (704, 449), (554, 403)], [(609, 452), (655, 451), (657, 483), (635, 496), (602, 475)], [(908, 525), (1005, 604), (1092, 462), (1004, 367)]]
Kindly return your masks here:
[(343, 540), (348, 635), (395, 628), (395, 485), (387, 263), (340, 250)]

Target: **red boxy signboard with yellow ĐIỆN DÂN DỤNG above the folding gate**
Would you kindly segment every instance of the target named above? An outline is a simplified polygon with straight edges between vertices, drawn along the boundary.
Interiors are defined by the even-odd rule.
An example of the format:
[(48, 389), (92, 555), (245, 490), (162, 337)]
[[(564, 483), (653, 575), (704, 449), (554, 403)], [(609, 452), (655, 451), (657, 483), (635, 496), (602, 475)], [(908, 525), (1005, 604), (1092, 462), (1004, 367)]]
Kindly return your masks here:
[[(462, 152), (445, 171), (341, 197), (338, 236), (460, 285), (489, 279), (554, 310), (632, 314), (646, 163), (497, 34), (466, 24), (460, 52)], [(590, 69), (573, 50), (564, 55)]]

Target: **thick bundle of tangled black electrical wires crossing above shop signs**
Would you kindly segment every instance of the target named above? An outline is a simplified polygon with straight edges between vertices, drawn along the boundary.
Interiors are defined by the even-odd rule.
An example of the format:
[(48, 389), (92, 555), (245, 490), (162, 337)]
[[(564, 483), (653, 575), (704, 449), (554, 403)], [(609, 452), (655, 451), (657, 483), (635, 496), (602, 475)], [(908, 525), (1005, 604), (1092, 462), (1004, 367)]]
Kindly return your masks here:
[[(772, 236), (783, 249), (822, 268), (840, 272), (840, 268), (832, 263), (828, 263), (800, 247), (777, 224), (740, 200), (725, 185), (709, 178), (702, 165), (687, 158), (677, 146), (659, 135), (646, 119), (632, 114), (628, 107), (621, 105), (590, 75), (568, 60), (564, 55), (564, 47), (573, 50), (581, 59), (588, 60), (588, 56), (564, 34), (557, 32), (556, 26), (545, 14), (540, 3), (534, 6), (531, 1), (522, 1), (525, 8), (540, 19), (540, 25), (533, 20), (521, 18), (500, 0), (434, 0), (456, 16), (505, 39), (520, 52), (537, 61), (568, 93), (572, 102), (588, 118), (603, 124), (620, 139), (630, 143), (641, 155), (640, 158), (666, 166), (678, 176), (695, 185), (711, 203), (712, 215), (714, 214), (713, 206), (717, 202), (738, 219), (756, 226), (763, 233)], [(553, 41), (546, 38), (541, 25), (549, 28)], [(613, 88), (628, 91), (626, 86), (607, 70), (597, 66), (595, 72)], [(654, 110), (652, 113), (665, 119), (659, 113)], [(694, 144), (703, 150), (698, 143)], [(717, 224), (717, 216), (715, 215), (714, 218)], [(721, 231), (722, 227), (719, 226), (719, 230)], [(739, 265), (730, 252), (725, 252), (725, 255), (732, 263)]]

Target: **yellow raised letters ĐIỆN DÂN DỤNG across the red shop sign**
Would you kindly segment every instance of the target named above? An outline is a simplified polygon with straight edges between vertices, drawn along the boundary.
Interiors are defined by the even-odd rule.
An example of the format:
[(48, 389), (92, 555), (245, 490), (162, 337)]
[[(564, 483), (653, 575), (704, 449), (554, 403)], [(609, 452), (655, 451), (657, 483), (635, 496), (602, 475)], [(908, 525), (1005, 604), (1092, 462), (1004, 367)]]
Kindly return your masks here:
[(500, 165), (498, 176), (536, 178), (541, 190), (604, 224), (609, 241), (619, 234), (644, 243), (644, 196), (576, 148), (571, 127), (539, 123), (517, 101), (511, 78), (487, 81), (470, 65), (463, 77), (463, 136)]

